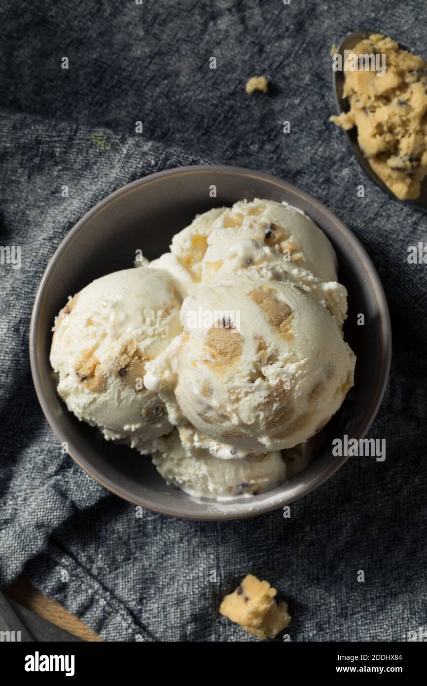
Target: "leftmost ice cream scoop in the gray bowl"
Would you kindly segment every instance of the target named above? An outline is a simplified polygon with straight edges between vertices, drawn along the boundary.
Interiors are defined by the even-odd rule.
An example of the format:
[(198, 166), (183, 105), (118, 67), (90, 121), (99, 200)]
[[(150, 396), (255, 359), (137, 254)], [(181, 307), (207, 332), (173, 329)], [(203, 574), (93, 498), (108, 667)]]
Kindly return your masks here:
[(171, 430), (164, 403), (143, 386), (145, 365), (182, 331), (182, 297), (167, 272), (114, 272), (77, 293), (53, 329), (51, 366), (58, 393), (107, 439), (150, 451)]

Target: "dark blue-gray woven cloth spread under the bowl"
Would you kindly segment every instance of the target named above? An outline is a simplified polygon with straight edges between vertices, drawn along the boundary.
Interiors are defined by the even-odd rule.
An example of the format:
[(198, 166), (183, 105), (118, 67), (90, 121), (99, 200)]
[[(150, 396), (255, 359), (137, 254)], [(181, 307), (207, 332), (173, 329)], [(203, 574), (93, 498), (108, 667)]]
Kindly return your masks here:
[[(426, 241), (427, 217), (369, 182), (328, 123), (329, 49), (369, 25), (426, 57), (425, 3), (159, 0), (143, 11), (137, 21), (127, 0), (0, 7), (0, 244), (23, 247), (21, 270), (0, 266), (0, 587), (25, 571), (107, 640), (252, 641), (217, 615), (252, 571), (289, 602), (294, 641), (405, 640), (426, 627), (427, 286), (406, 250)], [(273, 92), (247, 96), (246, 78), (263, 72)], [(115, 133), (97, 145), (102, 126)], [(391, 309), (390, 383), (369, 432), (387, 439), (387, 458), (349, 460), (291, 519), (136, 519), (61, 454), (32, 385), (32, 303), (71, 226), (127, 182), (208, 162), (261, 169), (322, 200), (365, 246)]]

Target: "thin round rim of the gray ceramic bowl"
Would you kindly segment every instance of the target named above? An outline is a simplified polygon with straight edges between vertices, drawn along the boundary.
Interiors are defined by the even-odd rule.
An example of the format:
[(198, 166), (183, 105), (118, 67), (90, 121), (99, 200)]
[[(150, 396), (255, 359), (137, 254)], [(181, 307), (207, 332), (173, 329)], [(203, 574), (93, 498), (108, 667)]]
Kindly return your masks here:
[[(380, 367), (378, 368), (378, 383), (376, 386), (376, 392), (373, 394), (371, 403), (365, 413), (364, 421), (361, 423), (361, 426), (358, 430), (358, 437), (363, 438), (367, 434), (367, 431), (371, 427), (372, 423), (374, 422), (382, 398), (385, 394), (387, 381), (389, 379), (389, 370), (391, 364), (391, 321), (389, 315), (389, 308), (387, 305), (387, 299), (385, 297), (385, 292), (382, 287), (382, 283), (380, 281), (378, 273), (376, 272), (374, 264), (372, 263), (369, 255), (367, 254), (367, 251), (365, 250), (361, 242), (358, 240), (356, 235), (354, 235), (352, 230), (350, 230), (350, 228), (348, 228), (342, 222), (342, 220), (323, 202), (317, 200), (317, 198), (311, 196), (310, 193), (307, 193), (306, 191), (299, 189), (295, 185), (287, 182), (286, 180), (282, 180), (281, 178), (272, 176), (271, 174), (267, 174), (263, 171), (256, 171), (254, 169), (248, 169), (245, 167), (234, 167), (228, 165), (191, 165), (184, 167), (173, 167), (172, 169), (164, 169), (163, 171), (157, 171), (154, 174), (149, 174), (147, 176), (143, 176), (142, 178), (138, 178), (120, 187), (116, 191), (110, 193), (108, 196), (106, 196), (106, 198), (103, 198), (103, 200), (97, 202), (97, 204), (95, 204), (90, 210), (84, 213), (80, 220), (78, 220), (74, 224), (74, 226), (69, 230), (69, 232), (66, 233), (62, 241), (60, 241), (60, 244), (53, 252), (53, 255), (47, 263), (45, 271), (42, 274), (42, 278), (40, 279), (40, 283), (36, 290), (36, 295), (34, 297), (34, 305), (32, 309), (32, 316), (29, 327), (29, 359), (34, 387), (36, 389), (36, 395), (42, 408), (42, 412), (45, 415), (45, 418), (47, 419), (47, 422), (49, 423), (49, 426), (51, 427), (53, 434), (55, 434), (56, 438), (58, 438), (60, 443), (66, 441), (66, 435), (62, 434), (62, 429), (59, 423), (56, 421), (56, 418), (51, 410), (47, 397), (45, 397), (45, 392), (43, 390), (42, 384), (42, 374), (38, 366), (37, 349), (37, 331), (38, 324), (40, 321), (40, 308), (42, 300), (45, 296), (45, 292), (47, 289), (47, 285), (49, 283), (53, 266), (58, 260), (58, 257), (65, 250), (66, 246), (68, 246), (68, 244), (74, 239), (75, 235), (77, 235), (77, 233), (80, 230), (82, 230), (82, 228), (84, 227), (86, 222), (88, 222), (88, 220), (95, 217), (95, 215), (97, 215), (98, 213), (104, 211), (106, 207), (110, 205), (110, 203), (114, 202), (118, 198), (122, 198), (123, 196), (127, 195), (127, 193), (132, 193), (135, 189), (143, 185), (149, 185), (154, 182), (162, 181), (169, 176), (177, 176), (181, 174), (208, 174), (212, 173), (212, 171), (215, 171), (216, 173), (232, 174), (236, 176), (246, 176), (247, 178), (254, 178), (256, 180), (262, 179), (269, 182), (271, 185), (276, 185), (280, 187), (280, 189), (284, 189), (286, 191), (293, 193), (293, 195), (297, 198), (301, 198), (305, 203), (308, 203), (311, 206), (313, 206), (313, 208), (317, 212), (321, 213), (326, 217), (326, 220), (328, 222), (332, 222), (332, 224), (334, 224), (334, 226), (341, 233), (344, 233), (347, 241), (350, 241), (353, 250), (358, 254), (359, 258), (365, 263), (367, 273), (369, 274), (371, 292), (374, 292), (376, 296), (376, 300), (378, 302), (378, 310), (381, 314), (383, 345), (382, 362)], [(195, 513), (195, 516), (195, 514), (191, 513), (190, 511), (180, 511), (180, 508), (177, 508), (176, 506), (163, 506), (162, 508), (159, 508), (158, 506), (156, 506), (155, 503), (151, 501), (147, 501), (143, 498), (137, 499), (125, 487), (117, 486), (117, 484), (114, 484), (114, 482), (112, 482), (110, 478), (105, 477), (105, 475), (99, 473), (98, 469), (94, 468), (92, 465), (88, 463), (86, 457), (80, 452), (80, 450), (77, 447), (73, 446), (72, 450), (70, 442), (67, 442), (69, 443), (69, 456), (86, 472), (86, 474), (92, 477), (96, 482), (101, 484), (101, 486), (109, 490), (111, 493), (118, 495), (122, 499), (134, 505), (142, 506), (143, 508), (150, 510), (151, 512), (157, 512), (158, 514), (167, 514), (171, 517), (178, 517), (181, 519), (195, 519), (199, 521), (212, 521), (218, 519), (245, 519), (247, 517), (257, 516), (258, 514), (264, 514), (265, 512), (271, 512), (271, 510), (276, 510), (284, 505), (290, 504), (291, 502), (299, 499), (300, 497), (303, 497), (304, 495), (307, 495), (308, 493), (310, 493), (311, 490), (317, 488), (317, 486), (321, 486), (321, 484), (324, 484), (324, 482), (326, 482), (326, 480), (328, 480), (335, 472), (337, 472), (341, 468), (341, 466), (348, 460), (348, 456), (341, 456), (335, 458), (328, 465), (326, 465), (324, 471), (322, 471), (321, 473), (317, 473), (315, 475), (315, 478), (311, 479), (308, 482), (305, 482), (304, 484), (295, 485), (293, 489), (291, 489), (291, 493), (288, 493), (287, 495), (285, 495), (284, 493), (276, 493), (276, 491), (273, 490), (271, 492), (275, 493), (273, 497), (268, 497), (268, 492), (262, 494), (267, 498), (263, 501), (254, 502), (251, 498), (248, 498), (247, 502), (239, 501), (238, 503), (233, 503), (233, 501), (230, 501), (230, 504), (232, 503), (234, 506), (233, 511), (221, 510), (221, 502), (218, 502), (217, 512), (215, 512), (215, 510), (211, 510), (210, 512), (198, 512)], [(291, 482), (288, 482), (288, 484), (289, 483)], [(212, 504), (214, 502), (215, 501), (212, 501)], [(206, 505), (208, 504), (212, 506), (210, 502), (206, 501)]]

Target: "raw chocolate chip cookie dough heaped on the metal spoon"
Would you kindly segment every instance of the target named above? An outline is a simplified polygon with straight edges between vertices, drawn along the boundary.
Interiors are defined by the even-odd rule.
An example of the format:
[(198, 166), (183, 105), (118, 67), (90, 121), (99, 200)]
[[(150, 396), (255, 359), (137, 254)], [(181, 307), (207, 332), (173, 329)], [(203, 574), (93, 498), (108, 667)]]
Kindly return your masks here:
[(385, 75), (346, 71), (343, 96), (350, 111), (330, 121), (345, 130), (357, 126), (376, 174), (400, 200), (418, 198), (427, 175), (427, 64), (382, 34), (362, 40), (354, 53), (385, 54)]

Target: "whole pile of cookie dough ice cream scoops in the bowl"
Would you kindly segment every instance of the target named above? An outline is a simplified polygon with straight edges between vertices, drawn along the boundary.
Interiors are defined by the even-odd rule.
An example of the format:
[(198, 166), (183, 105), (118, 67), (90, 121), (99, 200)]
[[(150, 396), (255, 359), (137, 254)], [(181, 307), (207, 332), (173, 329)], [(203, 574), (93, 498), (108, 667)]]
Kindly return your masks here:
[(347, 291), (324, 233), (286, 203), (241, 201), (135, 265), (56, 318), (51, 365), (69, 410), (197, 497), (292, 478), (353, 384)]

